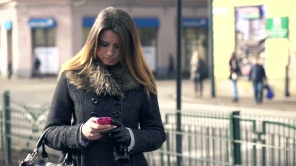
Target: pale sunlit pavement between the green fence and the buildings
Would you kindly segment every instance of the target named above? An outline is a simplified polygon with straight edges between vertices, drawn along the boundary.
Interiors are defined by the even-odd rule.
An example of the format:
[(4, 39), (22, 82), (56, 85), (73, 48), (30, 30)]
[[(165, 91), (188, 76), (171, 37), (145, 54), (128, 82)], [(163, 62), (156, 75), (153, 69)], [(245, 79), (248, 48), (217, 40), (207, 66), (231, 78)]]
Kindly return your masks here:
[[(11, 90), (14, 100), (28, 100), (28, 104), (48, 104), (56, 87), (56, 78), (42, 79), (17, 79), (11, 81), (0, 78), (0, 92)], [(176, 81), (157, 80), (158, 96), (160, 101), (176, 100)], [(216, 97), (211, 97), (210, 81), (203, 83), (203, 97), (194, 96), (193, 82), (182, 80), (182, 102), (221, 105), (231, 107), (247, 107), (277, 111), (296, 111), (296, 95), (289, 98), (284, 96), (283, 91), (275, 90), (275, 97), (272, 100), (263, 100), (263, 103), (256, 104), (253, 99), (252, 84), (248, 82), (238, 83), (239, 102), (233, 102), (232, 85), (229, 80), (216, 82)]]

